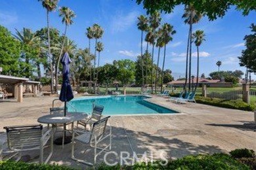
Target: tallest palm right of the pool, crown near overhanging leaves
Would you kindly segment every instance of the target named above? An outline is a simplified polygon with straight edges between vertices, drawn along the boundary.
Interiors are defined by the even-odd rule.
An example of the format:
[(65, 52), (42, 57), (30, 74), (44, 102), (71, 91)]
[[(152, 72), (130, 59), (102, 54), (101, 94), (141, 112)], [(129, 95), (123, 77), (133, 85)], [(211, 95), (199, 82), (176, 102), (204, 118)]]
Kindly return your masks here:
[(194, 9), (193, 4), (190, 3), (190, 5), (186, 5), (185, 12), (182, 16), (184, 18), (184, 23), (189, 24), (189, 31), (188, 31), (188, 45), (187, 45), (187, 51), (186, 51), (186, 80), (184, 84), (184, 90), (186, 90), (186, 84), (188, 80), (188, 92), (190, 92), (191, 89), (191, 59), (192, 59), (192, 25), (196, 24), (200, 21), (202, 18), (202, 14), (197, 12)]

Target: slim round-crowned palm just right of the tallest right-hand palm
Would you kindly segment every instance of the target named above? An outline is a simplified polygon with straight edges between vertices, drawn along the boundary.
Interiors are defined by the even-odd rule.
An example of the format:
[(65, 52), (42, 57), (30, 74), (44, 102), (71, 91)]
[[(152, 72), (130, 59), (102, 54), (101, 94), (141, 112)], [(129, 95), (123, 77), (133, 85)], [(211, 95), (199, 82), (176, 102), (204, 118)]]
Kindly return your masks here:
[[(197, 72), (196, 72), (196, 88), (198, 88), (198, 77), (199, 77), (199, 46), (202, 44), (204, 39), (205, 34), (203, 33), (202, 30), (197, 30), (195, 33), (192, 34), (192, 39), (194, 40), (194, 43), (196, 44), (196, 50), (198, 52), (198, 67), (197, 67)], [(196, 88), (195, 91), (196, 92)]]

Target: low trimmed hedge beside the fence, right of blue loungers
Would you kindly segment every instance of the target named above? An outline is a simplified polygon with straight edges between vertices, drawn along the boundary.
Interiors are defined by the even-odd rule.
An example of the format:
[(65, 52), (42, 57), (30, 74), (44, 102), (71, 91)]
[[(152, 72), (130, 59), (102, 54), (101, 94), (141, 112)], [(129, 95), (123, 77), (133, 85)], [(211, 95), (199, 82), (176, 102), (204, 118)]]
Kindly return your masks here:
[(238, 109), (238, 110), (247, 110), (247, 111), (255, 110), (255, 105), (249, 105), (244, 101), (242, 101), (241, 99), (225, 100), (225, 99), (209, 98), (209, 97), (202, 97), (202, 96), (196, 96), (195, 99), (197, 103), (202, 103), (205, 105), (213, 105), (213, 106), (224, 107), (228, 109)]

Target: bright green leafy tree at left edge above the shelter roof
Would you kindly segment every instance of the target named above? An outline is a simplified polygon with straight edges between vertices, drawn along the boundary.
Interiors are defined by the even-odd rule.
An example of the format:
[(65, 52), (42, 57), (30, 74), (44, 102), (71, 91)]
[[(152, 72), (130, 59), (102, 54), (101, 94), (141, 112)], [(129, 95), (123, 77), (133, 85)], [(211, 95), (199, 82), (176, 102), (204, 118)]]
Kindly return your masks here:
[(7, 28), (0, 25), (0, 67), (3, 67), (1, 74), (20, 76), (20, 54), (20, 42), (12, 37)]

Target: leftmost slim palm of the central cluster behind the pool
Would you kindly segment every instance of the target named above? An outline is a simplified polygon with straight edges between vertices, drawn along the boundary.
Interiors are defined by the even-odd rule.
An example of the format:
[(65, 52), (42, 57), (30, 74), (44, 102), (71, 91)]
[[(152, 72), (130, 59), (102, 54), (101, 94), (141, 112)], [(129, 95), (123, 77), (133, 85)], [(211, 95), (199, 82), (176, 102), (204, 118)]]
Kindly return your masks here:
[(144, 92), (144, 59), (143, 59), (143, 48), (142, 48), (142, 42), (143, 42), (143, 32), (146, 31), (148, 28), (148, 18), (144, 15), (140, 15), (138, 17), (138, 29), (141, 30), (141, 37), (140, 37), (140, 56), (141, 56), (141, 70), (142, 70), (142, 91)]

